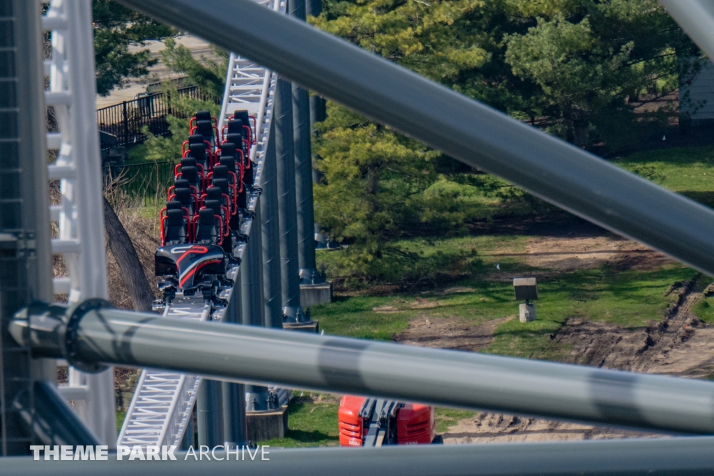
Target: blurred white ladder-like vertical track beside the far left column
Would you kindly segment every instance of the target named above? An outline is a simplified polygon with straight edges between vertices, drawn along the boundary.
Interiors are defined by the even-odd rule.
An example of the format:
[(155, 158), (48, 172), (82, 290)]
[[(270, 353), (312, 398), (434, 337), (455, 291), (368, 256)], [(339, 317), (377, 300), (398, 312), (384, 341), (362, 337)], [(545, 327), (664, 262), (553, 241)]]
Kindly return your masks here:
[[(104, 240), (99, 132), (96, 125), (94, 33), (91, 0), (52, 0), (42, 19), (51, 31), (52, 58), (46, 104), (54, 106), (58, 134), (48, 134), (48, 147), (59, 149), (49, 178), (59, 179), (61, 204), (51, 207), (59, 222), (52, 251), (62, 254), (68, 278), (54, 280), (56, 293), (69, 303), (108, 297)], [(86, 389), (86, 400), (74, 409), (103, 445), (116, 445), (114, 369), (86, 374), (69, 369), (69, 387)]]

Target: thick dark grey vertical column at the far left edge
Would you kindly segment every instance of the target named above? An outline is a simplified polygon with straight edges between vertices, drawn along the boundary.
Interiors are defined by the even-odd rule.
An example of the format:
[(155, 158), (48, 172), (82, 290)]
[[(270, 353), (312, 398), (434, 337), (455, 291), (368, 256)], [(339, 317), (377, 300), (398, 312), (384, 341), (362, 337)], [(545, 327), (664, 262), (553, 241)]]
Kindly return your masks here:
[[(27, 454), (43, 420), (35, 411), (33, 380), (56, 382), (57, 376), (55, 361), (32, 359), (29, 347), (19, 346), (6, 325), (31, 299), (53, 298), (40, 18), (39, 2), (0, 0), (1, 456)], [(22, 407), (14, 405), (18, 399)], [(74, 420), (82, 430), (78, 434), (88, 435)]]

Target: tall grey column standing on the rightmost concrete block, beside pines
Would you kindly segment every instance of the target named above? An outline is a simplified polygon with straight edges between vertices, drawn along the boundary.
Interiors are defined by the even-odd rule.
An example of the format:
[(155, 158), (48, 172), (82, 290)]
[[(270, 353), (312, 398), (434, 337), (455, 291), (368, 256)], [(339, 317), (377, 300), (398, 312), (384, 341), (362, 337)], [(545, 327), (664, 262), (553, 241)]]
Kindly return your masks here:
[[(305, 0), (289, 0), (291, 16), (305, 21)], [(295, 147), (295, 193), (298, 215), (298, 264), (300, 284), (323, 282), (315, 262), (315, 211), (312, 189), (312, 130), (310, 94), (293, 83), (293, 144)]]

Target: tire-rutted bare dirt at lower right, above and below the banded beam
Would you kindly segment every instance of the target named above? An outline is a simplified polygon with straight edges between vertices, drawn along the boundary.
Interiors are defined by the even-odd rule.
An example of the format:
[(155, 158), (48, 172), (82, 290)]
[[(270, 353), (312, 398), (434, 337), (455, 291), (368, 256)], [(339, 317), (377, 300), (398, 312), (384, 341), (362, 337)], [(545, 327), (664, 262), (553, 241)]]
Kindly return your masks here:
[[(677, 299), (656, 326), (622, 329), (605, 322), (587, 322), (572, 317), (553, 339), (558, 344), (573, 346), (566, 361), (574, 364), (685, 377), (707, 375), (706, 372), (714, 367), (714, 352), (710, 345), (714, 327), (706, 327), (691, 312), (703, 294), (695, 289), (696, 279), (670, 287), (668, 295), (675, 294)], [(689, 348), (683, 349), (683, 344)], [(449, 427), (443, 438), (445, 443), (454, 444), (661, 436), (480, 412)]]

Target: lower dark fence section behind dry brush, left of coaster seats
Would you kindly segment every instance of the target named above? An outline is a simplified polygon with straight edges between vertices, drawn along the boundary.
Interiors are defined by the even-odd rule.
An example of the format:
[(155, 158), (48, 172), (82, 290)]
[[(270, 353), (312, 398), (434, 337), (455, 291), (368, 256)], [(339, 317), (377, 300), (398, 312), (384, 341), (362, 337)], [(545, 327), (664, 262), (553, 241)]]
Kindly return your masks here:
[(119, 188), (130, 197), (139, 197), (145, 203), (154, 202), (157, 197), (162, 201), (174, 179), (174, 163), (105, 165), (104, 176), (110, 187)]

